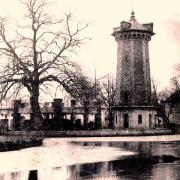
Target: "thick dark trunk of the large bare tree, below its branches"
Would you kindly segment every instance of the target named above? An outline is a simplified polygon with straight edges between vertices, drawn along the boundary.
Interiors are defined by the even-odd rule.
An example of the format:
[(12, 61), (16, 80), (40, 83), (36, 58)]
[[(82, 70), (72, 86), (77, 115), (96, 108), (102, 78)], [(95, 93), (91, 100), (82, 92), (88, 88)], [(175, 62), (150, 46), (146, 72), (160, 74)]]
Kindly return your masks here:
[(43, 117), (39, 106), (39, 85), (33, 84), (31, 95), (31, 121), (33, 130), (43, 130)]

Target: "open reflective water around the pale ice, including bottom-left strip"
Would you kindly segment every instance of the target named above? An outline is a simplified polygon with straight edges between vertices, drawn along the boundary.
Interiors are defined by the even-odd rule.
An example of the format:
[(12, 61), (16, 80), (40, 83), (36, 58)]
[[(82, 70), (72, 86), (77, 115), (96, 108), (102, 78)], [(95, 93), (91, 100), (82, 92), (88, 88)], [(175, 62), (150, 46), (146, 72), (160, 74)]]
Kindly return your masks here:
[[(73, 142), (76, 146), (109, 146), (138, 154), (116, 160), (39, 168), (0, 175), (0, 180), (153, 179), (178, 180), (180, 142)], [(92, 154), (93, 156), (93, 154)], [(89, 157), (90, 158), (90, 157)]]

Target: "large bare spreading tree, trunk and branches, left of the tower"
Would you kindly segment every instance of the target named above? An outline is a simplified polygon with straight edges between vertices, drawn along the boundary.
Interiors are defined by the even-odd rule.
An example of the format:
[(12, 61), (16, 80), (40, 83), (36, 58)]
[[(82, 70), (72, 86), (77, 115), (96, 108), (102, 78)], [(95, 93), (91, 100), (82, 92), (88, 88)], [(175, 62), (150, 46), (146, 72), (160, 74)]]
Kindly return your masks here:
[(16, 38), (8, 36), (7, 22), (0, 19), (0, 56), (6, 59), (2, 69), (1, 99), (10, 89), (19, 92), (26, 88), (30, 94), (33, 125), (41, 130), (43, 118), (39, 106), (40, 90), (46, 90), (56, 82), (73, 97), (78, 95), (80, 67), (70, 60), (70, 54), (82, 44), (85, 38), (81, 32), (87, 27), (72, 21), (72, 14), (54, 20), (46, 11), (44, 0), (25, 0), (25, 26), (18, 27)]

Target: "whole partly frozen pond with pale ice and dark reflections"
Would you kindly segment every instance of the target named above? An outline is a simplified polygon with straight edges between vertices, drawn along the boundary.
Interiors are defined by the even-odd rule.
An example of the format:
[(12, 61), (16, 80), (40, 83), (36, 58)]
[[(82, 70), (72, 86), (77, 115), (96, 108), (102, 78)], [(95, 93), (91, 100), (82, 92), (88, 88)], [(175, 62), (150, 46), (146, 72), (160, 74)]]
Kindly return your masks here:
[(178, 180), (180, 136), (47, 138), (0, 162), (0, 180)]

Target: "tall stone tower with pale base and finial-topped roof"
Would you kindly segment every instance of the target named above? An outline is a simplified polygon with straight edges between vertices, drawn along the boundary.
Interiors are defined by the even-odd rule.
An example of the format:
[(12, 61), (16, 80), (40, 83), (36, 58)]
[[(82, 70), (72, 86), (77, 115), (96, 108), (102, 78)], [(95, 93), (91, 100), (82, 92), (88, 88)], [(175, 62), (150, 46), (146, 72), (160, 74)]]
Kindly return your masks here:
[(114, 126), (151, 128), (155, 107), (151, 102), (149, 41), (153, 23), (140, 24), (134, 12), (122, 21), (112, 35), (117, 42), (116, 106)]

